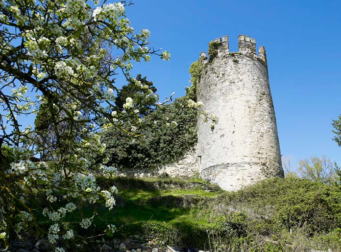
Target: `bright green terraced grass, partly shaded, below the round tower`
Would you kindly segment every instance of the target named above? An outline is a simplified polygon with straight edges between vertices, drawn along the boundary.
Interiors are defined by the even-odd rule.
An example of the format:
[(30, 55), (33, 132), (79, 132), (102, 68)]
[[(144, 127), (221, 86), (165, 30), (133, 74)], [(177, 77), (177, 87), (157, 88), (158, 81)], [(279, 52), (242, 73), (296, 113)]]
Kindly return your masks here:
[[(148, 178), (144, 180), (119, 179), (113, 181), (119, 189), (117, 205), (109, 213), (105, 214), (104, 218), (114, 219), (118, 223), (131, 223), (141, 221), (159, 221), (174, 224), (177, 222), (192, 222), (197, 224), (205, 224), (208, 219), (199, 217), (199, 208), (197, 206), (172, 206), (172, 202), (178, 203), (186, 196), (201, 197), (203, 200), (208, 197), (216, 197), (221, 192), (207, 191), (197, 186), (194, 189), (181, 189), (183, 183), (202, 183), (200, 180), (190, 180), (184, 182), (177, 179), (157, 179)], [(118, 183), (115, 183), (118, 182)], [(146, 187), (143, 188), (146, 183)], [(153, 182), (175, 184), (176, 188), (172, 189), (157, 189), (153, 188)], [(182, 198), (183, 197), (183, 198)], [(195, 198), (198, 198), (195, 197)], [(157, 198), (160, 204), (149, 202), (151, 199)], [(163, 201), (167, 201), (166, 204)], [(156, 202), (158, 203), (158, 202)]]

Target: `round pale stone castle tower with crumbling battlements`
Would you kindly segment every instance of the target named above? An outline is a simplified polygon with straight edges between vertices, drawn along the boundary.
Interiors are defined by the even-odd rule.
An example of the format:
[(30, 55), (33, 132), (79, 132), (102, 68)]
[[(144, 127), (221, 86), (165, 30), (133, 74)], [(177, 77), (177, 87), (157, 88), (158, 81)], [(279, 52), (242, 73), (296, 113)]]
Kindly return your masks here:
[(218, 123), (211, 128), (198, 118), (199, 173), (225, 190), (284, 177), (264, 46), (257, 57), (256, 42), (248, 36), (239, 36), (239, 52), (229, 52), (227, 36), (211, 43), (215, 58), (207, 61), (200, 53), (196, 90), (197, 101)]

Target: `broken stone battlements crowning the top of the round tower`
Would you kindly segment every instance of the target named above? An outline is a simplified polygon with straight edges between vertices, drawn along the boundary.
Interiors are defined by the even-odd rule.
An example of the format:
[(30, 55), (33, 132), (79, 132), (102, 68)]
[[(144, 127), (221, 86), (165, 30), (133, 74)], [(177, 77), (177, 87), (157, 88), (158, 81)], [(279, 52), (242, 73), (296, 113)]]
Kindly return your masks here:
[[(228, 36), (223, 36), (221, 38), (217, 38), (215, 40), (212, 40), (209, 45), (211, 43), (219, 43), (218, 46), (218, 57), (222, 57), (222, 56), (226, 56), (228, 54), (230, 54), (230, 49), (229, 49), (229, 42), (228, 42)], [(253, 38), (250, 38), (249, 36), (245, 36), (245, 35), (239, 35), (238, 36), (238, 52), (241, 54), (244, 54), (248, 57), (257, 57), (257, 52), (256, 52), (256, 40)], [(200, 57), (202, 57), (204, 52), (200, 53)], [(205, 57), (206, 56), (206, 53)], [(267, 63), (267, 55), (266, 55), (266, 51), (265, 51), (265, 47), (261, 46), (259, 47), (259, 51), (258, 51), (258, 58), (261, 59), (262, 61), (264, 61), (265, 63)]]

